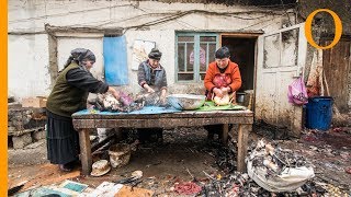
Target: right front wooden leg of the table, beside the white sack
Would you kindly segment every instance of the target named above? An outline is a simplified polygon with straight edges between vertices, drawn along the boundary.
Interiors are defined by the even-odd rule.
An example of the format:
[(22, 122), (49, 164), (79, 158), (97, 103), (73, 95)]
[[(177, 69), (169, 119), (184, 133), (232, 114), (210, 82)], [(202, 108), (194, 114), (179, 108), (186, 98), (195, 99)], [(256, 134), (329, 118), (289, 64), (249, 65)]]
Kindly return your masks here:
[(237, 164), (239, 172), (246, 172), (245, 157), (248, 153), (248, 138), (249, 132), (252, 130), (252, 125), (239, 125), (238, 130), (238, 155)]

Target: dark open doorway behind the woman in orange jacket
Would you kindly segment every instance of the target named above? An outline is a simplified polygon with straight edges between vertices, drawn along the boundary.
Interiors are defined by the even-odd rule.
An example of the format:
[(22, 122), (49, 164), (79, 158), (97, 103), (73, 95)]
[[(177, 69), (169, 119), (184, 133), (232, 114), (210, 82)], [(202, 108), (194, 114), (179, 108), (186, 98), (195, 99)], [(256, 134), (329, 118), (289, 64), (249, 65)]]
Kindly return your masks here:
[(222, 46), (230, 50), (230, 60), (239, 65), (242, 85), (239, 93), (254, 88), (254, 46), (256, 37), (222, 36)]

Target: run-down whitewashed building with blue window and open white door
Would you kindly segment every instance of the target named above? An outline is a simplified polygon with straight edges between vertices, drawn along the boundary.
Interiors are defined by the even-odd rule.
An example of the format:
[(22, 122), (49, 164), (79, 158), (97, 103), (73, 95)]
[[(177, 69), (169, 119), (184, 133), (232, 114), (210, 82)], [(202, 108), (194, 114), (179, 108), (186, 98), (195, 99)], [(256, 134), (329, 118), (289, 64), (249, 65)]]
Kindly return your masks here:
[[(335, 96), (340, 111), (348, 112), (351, 106), (351, 32), (346, 14), (350, 1), (338, 1), (337, 7), (324, 2), (324, 8), (330, 9), (343, 3), (344, 12), (337, 13), (346, 28), (335, 48), (318, 54), (306, 40), (304, 21), (320, 4), (313, 7), (308, 1), (10, 0), (9, 95), (18, 100), (48, 95), (58, 70), (76, 47), (97, 55), (92, 72), (98, 79), (129, 92), (139, 89), (138, 62), (146, 50), (158, 47), (163, 53), (161, 65), (170, 92), (203, 94), (206, 67), (214, 60), (214, 51), (225, 45), (240, 68), (244, 83), (238, 94), (252, 95), (256, 119), (298, 136), (303, 107), (287, 102), (287, 86), (303, 73), (307, 82), (320, 53), (328, 94)], [(320, 19), (325, 23), (318, 26)], [(330, 42), (333, 32), (325, 30), (332, 19), (321, 14), (315, 23), (316, 42)]]

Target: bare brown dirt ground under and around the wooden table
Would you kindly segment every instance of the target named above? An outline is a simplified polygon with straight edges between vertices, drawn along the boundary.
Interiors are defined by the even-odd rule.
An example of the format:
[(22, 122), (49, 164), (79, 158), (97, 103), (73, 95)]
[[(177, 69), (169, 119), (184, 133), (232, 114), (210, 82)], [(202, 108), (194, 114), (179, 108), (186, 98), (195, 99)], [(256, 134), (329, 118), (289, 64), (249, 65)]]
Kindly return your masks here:
[[(279, 135), (276, 134), (279, 132)], [(102, 182), (115, 182), (143, 171), (143, 182), (137, 187), (151, 189), (155, 196), (179, 196), (173, 192), (174, 183), (208, 179), (210, 175), (226, 175), (227, 170), (217, 165), (220, 144), (206, 140), (202, 127), (163, 130), (163, 143), (144, 143), (132, 153), (129, 163), (112, 169), (100, 176), (82, 176), (80, 169), (63, 173), (46, 160), (45, 140), (27, 146), (23, 150), (9, 149), (9, 188), (27, 181), (21, 192), (42, 185), (59, 184), (65, 179), (88, 184), (95, 188)], [(351, 129), (335, 128), (327, 132), (306, 130), (299, 139), (288, 138), (283, 131), (267, 126), (253, 127), (250, 143), (264, 138), (282, 148), (294, 150), (314, 164), (314, 182), (331, 184), (351, 195)], [(275, 139), (275, 140), (274, 140)], [(282, 140), (284, 139), (284, 140)], [(105, 159), (100, 154), (94, 159)]]

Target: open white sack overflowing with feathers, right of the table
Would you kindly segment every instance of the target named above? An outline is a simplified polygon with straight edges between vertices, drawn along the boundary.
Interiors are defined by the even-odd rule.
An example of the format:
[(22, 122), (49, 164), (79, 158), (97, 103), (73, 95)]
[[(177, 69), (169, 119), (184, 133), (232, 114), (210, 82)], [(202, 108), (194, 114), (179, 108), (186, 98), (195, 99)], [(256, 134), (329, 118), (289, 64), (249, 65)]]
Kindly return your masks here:
[(248, 174), (269, 192), (291, 192), (315, 176), (312, 164), (291, 150), (259, 140), (248, 157)]

